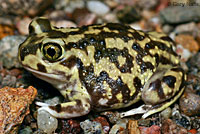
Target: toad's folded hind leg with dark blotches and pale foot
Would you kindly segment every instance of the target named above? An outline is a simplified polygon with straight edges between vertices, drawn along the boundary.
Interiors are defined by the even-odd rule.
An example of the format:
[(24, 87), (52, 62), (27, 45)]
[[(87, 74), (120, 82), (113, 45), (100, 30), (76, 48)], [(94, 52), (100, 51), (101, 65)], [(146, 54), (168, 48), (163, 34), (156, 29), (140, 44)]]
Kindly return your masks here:
[(184, 91), (186, 75), (180, 67), (157, 70), (142, 89), (146, 105), (120, 114), (121, 117), (143, 114), (142, 118), (160, 112), (173, 104)]

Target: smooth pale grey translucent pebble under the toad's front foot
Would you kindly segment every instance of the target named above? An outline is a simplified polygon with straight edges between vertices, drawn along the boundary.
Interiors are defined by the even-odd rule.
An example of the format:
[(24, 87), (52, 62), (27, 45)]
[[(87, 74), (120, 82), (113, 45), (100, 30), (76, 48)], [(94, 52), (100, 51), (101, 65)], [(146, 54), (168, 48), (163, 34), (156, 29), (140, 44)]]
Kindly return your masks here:
[(58, 120), (50, 115), (47, 111), (38, 109), (37, 115), (37, 125), (38, 128), (43, 130), (45, 133), (52, 133), (58, 127)]

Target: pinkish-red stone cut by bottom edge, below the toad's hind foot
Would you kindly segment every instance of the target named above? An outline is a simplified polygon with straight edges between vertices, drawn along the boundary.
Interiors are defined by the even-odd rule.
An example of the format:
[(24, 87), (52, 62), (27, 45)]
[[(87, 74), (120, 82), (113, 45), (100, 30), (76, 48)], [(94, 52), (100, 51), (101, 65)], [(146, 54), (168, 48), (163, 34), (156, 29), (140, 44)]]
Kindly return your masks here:
[(160, 134), (161, 133), (161, 129), (157, 125), (152, 125), (151, 127), (139, 127), (139, 128), (140, 128), (141, 134)]

